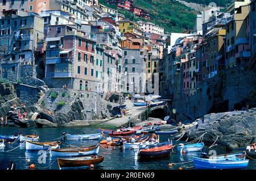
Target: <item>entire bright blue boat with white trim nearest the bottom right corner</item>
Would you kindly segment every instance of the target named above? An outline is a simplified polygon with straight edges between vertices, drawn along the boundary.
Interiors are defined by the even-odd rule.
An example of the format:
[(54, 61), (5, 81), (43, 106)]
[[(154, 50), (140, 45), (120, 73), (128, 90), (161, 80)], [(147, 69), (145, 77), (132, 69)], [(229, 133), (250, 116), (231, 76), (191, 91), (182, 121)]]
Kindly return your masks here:
[(249, 159), (246, 154), (226, 154), (210, 158), (192, 157), (196, 169), (245, 169)]

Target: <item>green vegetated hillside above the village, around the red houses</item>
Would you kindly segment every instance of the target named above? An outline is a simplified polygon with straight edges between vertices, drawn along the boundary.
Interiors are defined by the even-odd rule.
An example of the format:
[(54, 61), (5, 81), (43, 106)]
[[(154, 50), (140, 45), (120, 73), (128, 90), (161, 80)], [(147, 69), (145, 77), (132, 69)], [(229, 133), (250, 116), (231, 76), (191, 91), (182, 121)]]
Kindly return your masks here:
[[(99, 3), (117, 9), (115, 5), (109, 5), (104, 0), (99, 0)], [(195, 27), (196, 11), (174, 0), (134, 0), (134, 5), (149, 12), (151, 22), (164, 27), (165, 32), (183, 32)], [(144, 18), (135, 17), (129, 11), (118, 10), (118, 12), (133, 21), (146, 21)]]

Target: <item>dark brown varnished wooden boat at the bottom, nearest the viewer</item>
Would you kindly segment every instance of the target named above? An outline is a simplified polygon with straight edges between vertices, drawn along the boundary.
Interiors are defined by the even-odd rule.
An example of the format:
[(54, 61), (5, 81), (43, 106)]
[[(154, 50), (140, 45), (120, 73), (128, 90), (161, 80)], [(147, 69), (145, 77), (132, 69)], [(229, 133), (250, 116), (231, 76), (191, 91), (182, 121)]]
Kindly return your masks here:
[(90, 155), (86, 157), (76, 158), (57, 158), (58, 165), (61, 168), (85, 167), (96, 165), (104, 161), (104, 157), (98, 155)]

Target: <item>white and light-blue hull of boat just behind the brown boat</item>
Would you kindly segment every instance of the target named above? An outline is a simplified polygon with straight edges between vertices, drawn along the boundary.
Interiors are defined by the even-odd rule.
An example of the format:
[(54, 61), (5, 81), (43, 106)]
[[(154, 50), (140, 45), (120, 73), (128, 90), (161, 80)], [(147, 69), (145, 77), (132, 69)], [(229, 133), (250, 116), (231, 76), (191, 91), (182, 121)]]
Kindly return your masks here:
[(98, 154), (98, 151), (100, 150), (100, 145), (93, 146), (92, 149), (67, 149), (67, 151), (59, 151), (52, 149), (50, 151), (51, 157), (79, 157), (79, 156), (85, 156), (85, 155), (96, 155)]

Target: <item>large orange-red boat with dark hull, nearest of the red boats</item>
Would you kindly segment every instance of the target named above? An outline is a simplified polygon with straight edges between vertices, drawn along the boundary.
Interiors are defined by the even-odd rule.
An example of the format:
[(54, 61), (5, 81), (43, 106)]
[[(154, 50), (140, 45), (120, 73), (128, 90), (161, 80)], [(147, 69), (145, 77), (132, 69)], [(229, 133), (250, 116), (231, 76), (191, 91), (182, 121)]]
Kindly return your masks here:
[(172, 145), (169, 143), (160, 143), (153, 148), (139, 150), (139, 157), (163, 157), (171, 154)]

